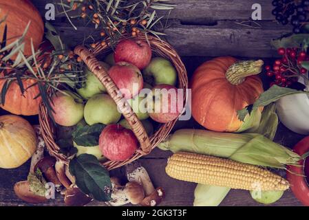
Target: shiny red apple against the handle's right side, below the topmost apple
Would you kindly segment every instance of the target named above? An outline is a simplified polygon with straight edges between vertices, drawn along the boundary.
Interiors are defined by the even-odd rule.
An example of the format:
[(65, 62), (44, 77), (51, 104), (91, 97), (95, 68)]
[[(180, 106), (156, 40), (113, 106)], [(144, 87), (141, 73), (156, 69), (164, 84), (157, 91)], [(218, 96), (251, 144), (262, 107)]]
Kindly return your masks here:
[(143, 87), (142, 74), (138, 67), (127, 62), (119, 62), (109, 69), (109, 76), (122, 92), (125, 99), (136, 96)]

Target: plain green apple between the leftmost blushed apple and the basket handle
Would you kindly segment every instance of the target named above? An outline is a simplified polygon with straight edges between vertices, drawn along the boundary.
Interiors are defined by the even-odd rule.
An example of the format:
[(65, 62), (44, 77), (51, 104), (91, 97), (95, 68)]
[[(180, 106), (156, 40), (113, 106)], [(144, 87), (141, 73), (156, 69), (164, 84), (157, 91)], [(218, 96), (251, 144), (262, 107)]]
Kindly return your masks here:
[(85, 105), (84, 117), (87, 124), (114, 124), (121, 118), (121, 113), (111, 96), (98, 94), (89, 98)]

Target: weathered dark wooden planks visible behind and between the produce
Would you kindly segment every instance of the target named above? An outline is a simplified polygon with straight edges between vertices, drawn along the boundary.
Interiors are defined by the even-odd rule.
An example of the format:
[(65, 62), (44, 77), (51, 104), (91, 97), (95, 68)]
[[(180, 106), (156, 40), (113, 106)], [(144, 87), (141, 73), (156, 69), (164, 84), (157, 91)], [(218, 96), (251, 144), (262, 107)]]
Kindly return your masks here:
[[(44, 15), (45, 4), (52, 1), (32, 0), (32, 2)], [(166, 30), (167, 41), (182, 56), (189, 78), (198, 65), (213, 56), (264, 58), (266, 63), (270, 63), (276, 56), (275, 50), (270, 47), (270, 40), (290, 31), (289, 26), (282, 26), (273, 21), (270, 0), (174, 0), (171, 3), (178, 6), (170, 14), (170, 26)], [(240, 25), (239, 23), (250, 21), (253, 3), (262, 5), (262, 21), (257, 21), (260, 27)], [(80, 43), (85, 34), (92, 30), (92, 28), (81, 27), (81, 23), (75, 24), (78, 25), (77, 31), (74, 31), (65, 18), (56, 19), (53, 22), (53, 25), (70, 39), (72, 45)], [(251, 25), (255, 23), (251, 22)], [(267, 78), (263, 74), (261, 76), (267, 87)], [(3, 113), (3, 111), (0, 112), (0, 114)], [(36, 117), (26, 118), (32, 124), (37, 123)], [(190, 120), (178, 122), (174, 130), (181, 128), (200, 128), (200, 126)], [(275, 141), (292, 147), (301, 138), (303, 135), (292, 133), (284, 125), (279, 124)], [(167, 196), (160, 204), (161, 206), (191, 206), (195, 184), (178, 181), (166, 175), (164, 168), (170, 155), (171, 153), (167, 151), (155, 149), (139, 161), (149, 171), (153, 184), (164, 187), (166, 191)], [(28, 162), (17, 169), (0, 169), (0, 206), (31, 206), (19, 200), (13, 191), (14, 183), (26, 179), (29, 166)], [(121, 173), (121, 169), (114, 173)], [(284, 175), (282, 171), (279, 173)], [(56, 199), (39, 205), (63, 206), (63, 197), (58, 195)], [(89, 204), (89, 206), (95, 205), (103, 204), (97, 202)], [(262, 204), (255, 202), (247, 191), (231, 190), (221, 206), (262, 206)], [(284, 193), (284, 197), (273, 206), (301, 206), (301, 203), (288, 190)]]

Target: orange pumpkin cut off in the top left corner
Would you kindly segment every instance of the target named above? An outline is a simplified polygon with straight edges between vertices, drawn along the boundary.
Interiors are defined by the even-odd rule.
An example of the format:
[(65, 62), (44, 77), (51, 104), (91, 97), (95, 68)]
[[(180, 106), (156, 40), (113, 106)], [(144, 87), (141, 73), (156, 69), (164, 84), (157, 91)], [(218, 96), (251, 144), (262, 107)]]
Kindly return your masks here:
[(29, 56), (31, 51), (31, 39), (34, 50), (39, 48), (44, 35), (44, 23), (39, 11), (29, 0), (0, 0), (0, 21), (6, 17), (3, 23), (0, 23), (0, 41), (2, 41), (4, 27), (7, 25), (7, 39), (10, 44), (23, 35), (29, 21), (30, 27), (25, 35), (24, 54)]

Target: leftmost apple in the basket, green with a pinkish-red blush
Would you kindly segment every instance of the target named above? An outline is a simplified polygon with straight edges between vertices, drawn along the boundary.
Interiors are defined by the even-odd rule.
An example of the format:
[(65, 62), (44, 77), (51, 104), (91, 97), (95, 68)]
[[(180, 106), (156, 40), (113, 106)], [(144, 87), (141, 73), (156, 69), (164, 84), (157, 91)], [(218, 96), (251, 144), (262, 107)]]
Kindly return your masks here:
[(52, 108), (54, 121), (62, 126), (74, 126), (83, 119), (83, 100), (70, 91), (58, 91), (52, 97)]

